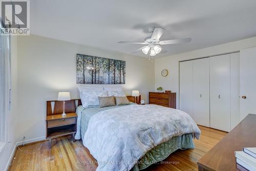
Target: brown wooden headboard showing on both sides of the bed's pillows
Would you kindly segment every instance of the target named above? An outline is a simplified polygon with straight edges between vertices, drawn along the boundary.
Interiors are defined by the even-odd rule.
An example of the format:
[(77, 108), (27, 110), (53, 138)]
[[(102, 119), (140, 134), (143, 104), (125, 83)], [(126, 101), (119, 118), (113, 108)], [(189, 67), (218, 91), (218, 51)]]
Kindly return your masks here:
[[(136, 100), (133, 96), (126, 96), (131, 102), (140, 103), (141, 96)], [(76, 112), (77, 106), (82, 105), (81, 99), (72, 99), (65, 101), (65, 113)], [(58, 115), (63, 113), (63, 101), (49, 100), (46, 101), (46, 115)]]

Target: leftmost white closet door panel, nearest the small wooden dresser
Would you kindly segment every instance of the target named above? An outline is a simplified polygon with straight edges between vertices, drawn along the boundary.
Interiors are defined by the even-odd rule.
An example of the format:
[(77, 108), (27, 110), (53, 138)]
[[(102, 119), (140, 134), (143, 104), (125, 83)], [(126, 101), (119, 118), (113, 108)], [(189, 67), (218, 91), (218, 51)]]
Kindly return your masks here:
[(193, 61), (180, 62), (180, 110), (193, 118)]

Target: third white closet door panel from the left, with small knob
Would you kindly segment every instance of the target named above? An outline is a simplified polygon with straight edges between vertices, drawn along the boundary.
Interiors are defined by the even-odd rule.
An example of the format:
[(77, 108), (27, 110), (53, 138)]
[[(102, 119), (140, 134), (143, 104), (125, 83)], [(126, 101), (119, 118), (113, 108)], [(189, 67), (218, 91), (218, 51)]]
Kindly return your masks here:
[(230, 54), (210, 57), (210, 127), (230, 131)]

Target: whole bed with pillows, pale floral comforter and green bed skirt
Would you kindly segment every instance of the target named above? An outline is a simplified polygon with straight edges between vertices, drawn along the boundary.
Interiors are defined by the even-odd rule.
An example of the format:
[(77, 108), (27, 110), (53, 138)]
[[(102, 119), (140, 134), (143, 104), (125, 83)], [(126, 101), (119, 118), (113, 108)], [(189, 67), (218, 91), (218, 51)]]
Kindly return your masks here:
[(194, 148), (193, 138), (200, 137), (197, 124), (185, 112), (130, 103), (122, 86), (79, 86), (78, 90), (75, 139), (82, 139), (97, 160), (98, 171), (141, 170), (177, 149)]

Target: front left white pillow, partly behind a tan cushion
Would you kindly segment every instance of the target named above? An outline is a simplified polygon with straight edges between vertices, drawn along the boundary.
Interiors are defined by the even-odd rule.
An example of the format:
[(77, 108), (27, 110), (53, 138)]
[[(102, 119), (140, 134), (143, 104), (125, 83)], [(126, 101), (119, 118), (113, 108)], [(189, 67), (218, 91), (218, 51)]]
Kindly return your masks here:
[(92, 105), (99, 105), (98, 97), (108, 97), (108, 91), (105, 91), (105, 90), (82, 91), (80, 94), (80, 98), (81, 98), (83, 108), (86, 108)]

